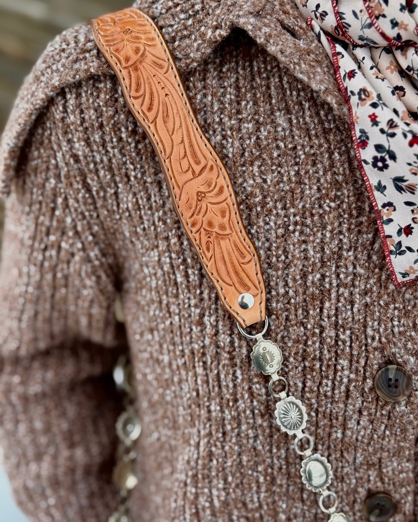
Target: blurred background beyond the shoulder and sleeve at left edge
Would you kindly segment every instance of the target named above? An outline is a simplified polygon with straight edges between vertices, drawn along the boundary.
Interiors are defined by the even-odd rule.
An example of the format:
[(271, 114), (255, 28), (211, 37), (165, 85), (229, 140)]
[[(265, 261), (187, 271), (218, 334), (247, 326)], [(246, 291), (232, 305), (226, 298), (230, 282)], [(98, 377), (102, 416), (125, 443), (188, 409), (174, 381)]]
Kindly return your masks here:
[[(0, 133), (24, 77), (56, 34), (132, 4), (133, 0), (0, 0)], [(3, 218), (0, 203), (0, 245)], [(13, 502), (1, 461), (0, 448), (0, 522), (27, 522)]]

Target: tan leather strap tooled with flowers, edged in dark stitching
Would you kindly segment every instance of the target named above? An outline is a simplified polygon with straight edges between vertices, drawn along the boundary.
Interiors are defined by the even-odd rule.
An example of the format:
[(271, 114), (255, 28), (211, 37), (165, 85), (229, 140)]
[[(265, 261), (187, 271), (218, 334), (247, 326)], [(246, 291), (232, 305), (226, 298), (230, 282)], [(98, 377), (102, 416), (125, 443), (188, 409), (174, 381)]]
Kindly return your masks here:
[[(229, 175), (190, 106), (167, 44), (133, 7), (92, 20), (96, 43), (157, 152), (175, 209), (227, 310), (246, 327), (265, 318), (256, 249), (242, 224)], [(254, 296), (242, 310), (241, 293)]]

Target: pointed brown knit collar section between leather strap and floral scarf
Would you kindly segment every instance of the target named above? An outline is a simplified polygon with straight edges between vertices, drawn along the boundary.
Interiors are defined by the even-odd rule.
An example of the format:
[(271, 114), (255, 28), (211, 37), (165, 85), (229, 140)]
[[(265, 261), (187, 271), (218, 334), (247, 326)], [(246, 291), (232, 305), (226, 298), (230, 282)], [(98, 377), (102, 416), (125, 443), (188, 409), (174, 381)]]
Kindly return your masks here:
[(346, 115), (332, 64), (294, 0), (136, 0), (134, 7), (160, 27), (181, 74), (240, 28), (337, 113)]

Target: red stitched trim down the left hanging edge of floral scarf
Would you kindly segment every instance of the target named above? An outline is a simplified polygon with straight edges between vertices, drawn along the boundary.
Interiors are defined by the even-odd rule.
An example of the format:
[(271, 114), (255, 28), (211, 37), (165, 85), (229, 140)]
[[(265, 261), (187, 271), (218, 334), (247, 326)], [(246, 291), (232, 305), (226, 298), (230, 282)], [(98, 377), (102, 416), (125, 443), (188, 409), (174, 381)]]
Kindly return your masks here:
[[(310, 27), (312, 27), (312, 20), (310, 22), (308, 22), (308, 25)], [(334, 44), (332, 39), (327, 34), (325, 34), (325, 37), (327, 38), (328, 43), (330, 44), (330, 47), (331, 47), (332, 63), (333, 63), (334, 70), (335, 70), (336, 80), (338, 81), (338, 85), (340, 87), (340, 90), (342, 92), (344, 100), (346, 101), (346, 103), (347, 103), (347, 105), (349, 107), (351, 135), (353, 137), (353, 143), (354, 143), (354, 149), (355, 149), (355, 152), (356, 152), (358, 168), (359, 168), (360, 172), (362, 173), (363, 179), (364, 179), (364, 181), (366, 183), (367, 192), (369, 194), (369, 197), (371, 199), (371, 203), (373, 204), (373, 208), (375, 210), (375, 215), (376, 215), (376, 219), (377, 219), (377, 226), (379, 227), (380, 237), (382, 239), (383, 248), (384, 248), (384, 251), (385, 251), (386, 263), (388, 265), (388, 268), (389, 268), (390, 275), (392, 277), (392, 281), (393, 281), (394, 286), (395, 287), (400, 287), (402, 284), (416, 281), (416, 279), (414, 278), (414, 279), (407, 279), (405, 281), (399, 281), (398, 277), (396, 275), (396, 271), (393, 268), (392, 259), (390, 257), (390, 253), (389, 253), (388, 242), (386, 241), (385, 229), (384, 229), (382, 218), (381, 218), (381, 215), (380, 215), (379, 205), (377, 204), (375, 195), (373, 193), (373, 188), (371, 187), (370, 181), (369, 181), (368, 176), (366, 174), (366, 171), (364, 170), (364, 167), (363, 167), (362, 155), (360, 153), (360, 148), (358, 146), (356, 130), (355, 130), (355, 124), (354, 124), (354, 120), (353, 120), (353, 109), (352, 109), (352, 106), (351, 106), (351, 103), (350, 103), (349, 96), (348, 96), (348, 94), (347, 94), (347, 92), (345, 90), (345, 86), (344, 86), (343, 80), (341, 78), (341, 72), (340, 72), (340, 67), (339, 67), (339, 64), (338, 64), (338, 56), (336, 55), (335, 44)]]

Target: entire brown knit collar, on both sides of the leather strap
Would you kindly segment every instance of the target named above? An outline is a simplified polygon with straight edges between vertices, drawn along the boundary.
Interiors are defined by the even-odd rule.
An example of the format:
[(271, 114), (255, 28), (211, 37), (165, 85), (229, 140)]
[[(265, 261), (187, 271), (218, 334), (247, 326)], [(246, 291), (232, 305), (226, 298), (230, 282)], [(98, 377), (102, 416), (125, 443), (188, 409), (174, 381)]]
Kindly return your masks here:
[[(134, 6), (162, 29), (181, 74), (202, 62), (238, 27), (348, 118), (332, 64), (293, 0), (136, 0)], [(20, 150), (49, 101), (80, 78), (109, 74), (99, 54), (88, 24), (68, 29), (42, 54), (19, 92), (3, 134), (0, 195), (9, 193)]]

